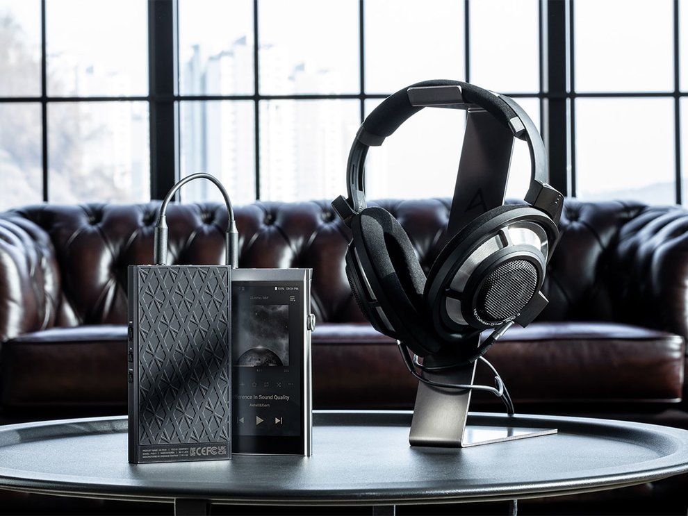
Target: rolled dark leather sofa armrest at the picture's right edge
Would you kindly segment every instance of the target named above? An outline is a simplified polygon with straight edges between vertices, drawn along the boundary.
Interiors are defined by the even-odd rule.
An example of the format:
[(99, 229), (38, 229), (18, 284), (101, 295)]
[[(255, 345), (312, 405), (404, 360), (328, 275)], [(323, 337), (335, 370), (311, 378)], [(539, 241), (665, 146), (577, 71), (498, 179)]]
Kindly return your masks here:
[(619, 320), (688, 340), (688, 212), (648, 207), (619, 231), (612, 258)]

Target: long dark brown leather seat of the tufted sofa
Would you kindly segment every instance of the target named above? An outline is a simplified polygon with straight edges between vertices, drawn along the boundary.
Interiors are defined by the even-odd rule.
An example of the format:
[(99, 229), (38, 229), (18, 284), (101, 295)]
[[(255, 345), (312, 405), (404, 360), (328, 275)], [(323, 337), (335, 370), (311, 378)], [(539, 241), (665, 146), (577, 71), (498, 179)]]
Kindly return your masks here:
[[(418, 383), (391, 338), (367, 323), (322, 323), (312, 342), (315, 408), (413, 408)], [(684, 357), (685, 342), (677, 335), (587, 322), (514, 327), (487, 353), (517, 407), (678, 401)], [(478, 379), (492, 385), (485, 370), (478, 367)], [(0, 381), (6, 408), (110, 407), (124, 413), (126, 327), (52, 328), (9, 340), (0, 349)]]

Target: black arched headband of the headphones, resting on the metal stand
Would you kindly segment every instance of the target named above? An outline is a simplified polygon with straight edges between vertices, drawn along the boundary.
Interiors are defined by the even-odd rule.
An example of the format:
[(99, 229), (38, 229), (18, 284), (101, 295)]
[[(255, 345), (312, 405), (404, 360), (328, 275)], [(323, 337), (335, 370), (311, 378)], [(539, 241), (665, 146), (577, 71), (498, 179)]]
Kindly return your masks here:
[(490, 113), (515, 138), (525, 140), (530, 151), (530, 187), (525, 201), (544, 210), (558, 222), (562, 194), (547, 185), (547, 155), (530, 117), (513, 99), (461, 81), (433, 80), (415, 83), (391, 94), (359, 127), (347, 163), (348, 199), (338, 197), (332, 206), (343, 220), (366, 208), (365, 162), (370, 147), (382, 145), (409, 117), (426, 106), (469, 109)]

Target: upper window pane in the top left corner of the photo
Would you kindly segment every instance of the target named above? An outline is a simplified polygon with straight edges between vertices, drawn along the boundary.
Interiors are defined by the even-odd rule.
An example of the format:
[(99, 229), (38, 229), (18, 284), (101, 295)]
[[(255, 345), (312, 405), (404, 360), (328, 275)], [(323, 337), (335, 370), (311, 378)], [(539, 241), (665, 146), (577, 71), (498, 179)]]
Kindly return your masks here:
[(0, 97), (40, 95), (40, 0), (0, 0)]

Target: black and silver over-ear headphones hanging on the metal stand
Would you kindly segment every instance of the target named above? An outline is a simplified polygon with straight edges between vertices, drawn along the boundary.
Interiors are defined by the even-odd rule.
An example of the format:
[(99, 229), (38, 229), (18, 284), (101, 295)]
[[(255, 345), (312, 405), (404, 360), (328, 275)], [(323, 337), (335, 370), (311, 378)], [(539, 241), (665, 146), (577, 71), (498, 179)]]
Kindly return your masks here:
[[(485, 110), (527, 142), (531, 158), (525, 204), (498, 206), (470, 220), (450, 237), (427, 278), (398, 220), (382, 208), (366, 206), (364, 181), (368, 149), (381, 145), (425, 106)], [(559, 238), (563, 197), (546, 183), (547, 174), (537, 129), (509, 97), (440, 80), (413, 84), (385, 99), (361, 124), (352, 144), (348, 198), (332, 202), (352, 231), (346, 274), (363, 315), (418, 356), (455, 347), (459, 363), (482, 356), (514, 322), (529, 324), (546, 306), (540, 290)], [(505, 192), (499, 193), (504, 199)], [(489, 328), (493, 333), (480, 347), (465, 344)]]

